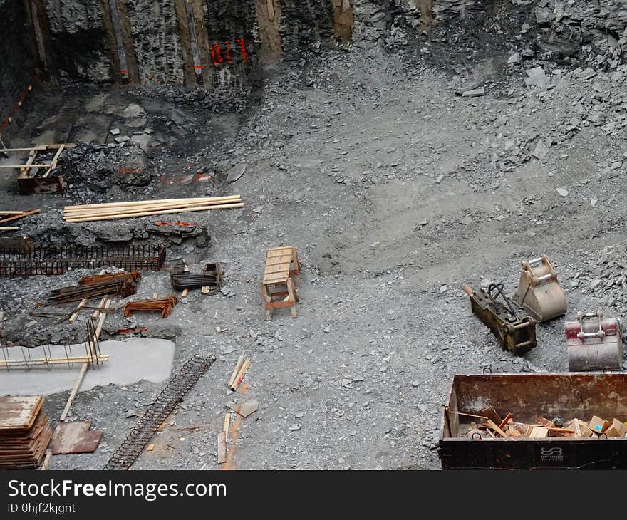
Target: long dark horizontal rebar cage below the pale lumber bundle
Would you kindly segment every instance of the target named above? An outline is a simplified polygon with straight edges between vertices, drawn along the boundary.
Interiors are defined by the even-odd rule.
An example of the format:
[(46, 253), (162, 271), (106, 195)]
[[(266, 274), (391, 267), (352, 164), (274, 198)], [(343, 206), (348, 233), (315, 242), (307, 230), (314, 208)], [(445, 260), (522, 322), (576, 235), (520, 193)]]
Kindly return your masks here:
[(165, 261), (162, 244), (142, 246), (61, 246), (6, 249), (0, 252), (0, 276), (63, 274), (69, 269), (116, 266), (129, 271), (159, 271)]

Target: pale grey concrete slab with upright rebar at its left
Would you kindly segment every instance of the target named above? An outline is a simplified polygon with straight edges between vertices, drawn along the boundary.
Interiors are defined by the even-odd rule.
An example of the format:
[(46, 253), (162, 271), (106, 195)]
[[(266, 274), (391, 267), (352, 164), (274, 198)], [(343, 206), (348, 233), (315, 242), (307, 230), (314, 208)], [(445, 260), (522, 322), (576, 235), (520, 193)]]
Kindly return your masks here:
[[(72, 345), (73, 353), (84, 352), (85, 346)], [(100, 343), (103, 354), (109, 360), (103, 365), (88, 370), (81, 391), (96, 386), (130, 385), (142, 379), (159, 383), (170, 377), (175, 344), (172, 341), (155, 338), (129, 338), (123, 341), (103, 341)], [(21, 355), (19, 348), (16, 355)], [(41, 348), (32, 353), (41, 356)], [(51, 346), (51, 355), (63, 357), (62, 346)], [(13, 357), (13, 356), (11, 356)], [(11, 370), (0, 372), (0, 395), (50, 395), (63, 390), (71, 390), (81, 365), (68, 368), (58, 365), (52, 368), (32, 370)]]

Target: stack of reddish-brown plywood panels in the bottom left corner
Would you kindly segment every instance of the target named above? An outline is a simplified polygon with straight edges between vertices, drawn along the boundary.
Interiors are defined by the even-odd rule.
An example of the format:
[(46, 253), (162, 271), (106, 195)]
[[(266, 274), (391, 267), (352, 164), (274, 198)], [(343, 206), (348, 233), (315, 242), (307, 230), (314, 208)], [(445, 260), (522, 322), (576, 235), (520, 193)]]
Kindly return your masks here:
[(52, 429), (41, 410), (43, 397), (0, 397), (0, 469), (41, 464)]

